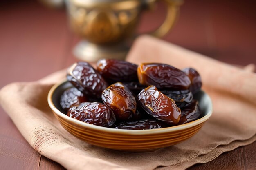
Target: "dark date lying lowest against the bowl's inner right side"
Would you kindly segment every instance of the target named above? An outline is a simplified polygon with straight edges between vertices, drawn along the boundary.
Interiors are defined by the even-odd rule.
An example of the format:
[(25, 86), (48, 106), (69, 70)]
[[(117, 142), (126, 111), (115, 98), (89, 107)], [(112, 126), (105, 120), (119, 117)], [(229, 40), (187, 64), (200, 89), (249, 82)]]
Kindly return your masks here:
[(193, 100), (191, 104), (181, 109), (180, 124), (186, 124), (188, 122), (198, 119), (201, 115), (201, 111), (198, 106), (198, 101)]

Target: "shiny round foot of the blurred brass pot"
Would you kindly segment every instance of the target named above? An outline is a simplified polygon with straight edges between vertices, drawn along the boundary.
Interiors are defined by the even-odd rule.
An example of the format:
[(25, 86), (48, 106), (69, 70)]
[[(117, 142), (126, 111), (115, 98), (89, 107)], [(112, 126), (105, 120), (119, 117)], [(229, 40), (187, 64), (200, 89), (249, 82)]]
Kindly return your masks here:
[(82, 40), (75, 46), (73, 53), (79, 60), (96, 62), (102, 58), (124, 60), (128, 50), (129, 47), (125, 43), (97, 45)]

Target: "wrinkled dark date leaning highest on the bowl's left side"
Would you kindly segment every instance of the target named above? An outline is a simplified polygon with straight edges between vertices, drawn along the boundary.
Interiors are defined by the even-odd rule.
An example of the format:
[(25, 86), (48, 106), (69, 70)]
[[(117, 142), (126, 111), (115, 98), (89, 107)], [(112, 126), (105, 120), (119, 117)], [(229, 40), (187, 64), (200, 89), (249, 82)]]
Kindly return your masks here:
[(108, 84), (87, 62), (77, 62), (67, 70), (67, 80), (79, 91), (92, 98), (100, 98)]

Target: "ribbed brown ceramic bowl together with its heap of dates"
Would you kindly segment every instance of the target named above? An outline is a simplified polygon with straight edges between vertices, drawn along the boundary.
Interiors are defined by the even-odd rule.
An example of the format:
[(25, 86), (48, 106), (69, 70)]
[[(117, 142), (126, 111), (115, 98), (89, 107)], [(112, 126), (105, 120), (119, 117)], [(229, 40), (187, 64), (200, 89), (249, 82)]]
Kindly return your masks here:
[(197, 133), (212, 114), (200, 74), (162, 63), (76, 62), (48, 103), (63, 128), (89, 144), (149, 152)]

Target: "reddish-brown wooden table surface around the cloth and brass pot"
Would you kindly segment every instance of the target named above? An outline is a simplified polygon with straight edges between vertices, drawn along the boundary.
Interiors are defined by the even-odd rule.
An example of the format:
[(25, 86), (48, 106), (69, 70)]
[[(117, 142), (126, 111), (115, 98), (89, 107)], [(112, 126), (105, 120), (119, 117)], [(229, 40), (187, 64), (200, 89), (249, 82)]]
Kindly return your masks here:
[[(186, 1), (180, 20), (164, 39), (231, 64), (256, 64), (256, 3), (239, 0)], [(139, 32), (154, 29), (164, 18), (145, 13)], [(149, 22), (151, 20), (151, 22)], [(153, 22), (152, 22), (153, 21)], [(17, 81), (34, 81), (75, 62), (72, 47), (79, 38), (67, 27), (64, 10), (32, 0), (0, 2), (0, 88)], [(36, 152), (0, 108), (0, 169), (62, 170)], [(200, 169), (256, 169), (256, 142), (226, 152)]]

